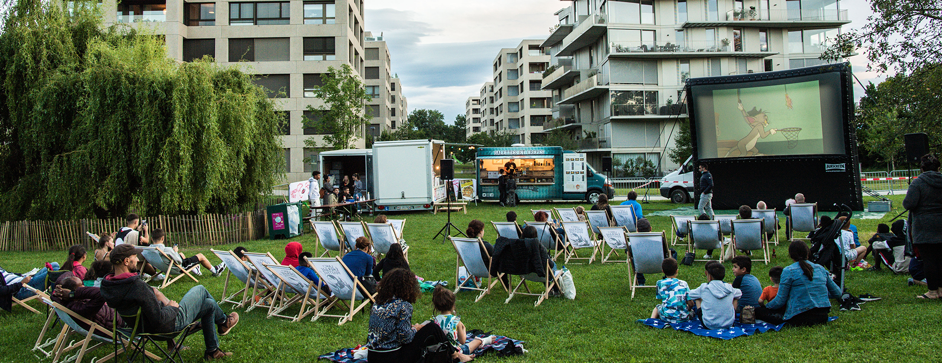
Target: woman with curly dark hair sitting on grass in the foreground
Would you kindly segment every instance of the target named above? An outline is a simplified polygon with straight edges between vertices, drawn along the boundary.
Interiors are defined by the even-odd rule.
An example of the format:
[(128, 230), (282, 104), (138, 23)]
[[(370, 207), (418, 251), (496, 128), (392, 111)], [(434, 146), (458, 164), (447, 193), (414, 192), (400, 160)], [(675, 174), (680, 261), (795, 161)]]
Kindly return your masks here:
[[(410, 325), (413, 304), (419, 295), (418, 282), (412, 271), (396, 269), (386, 273), (376, 289), (376, 304), (369, 314), (367, 361), (414, 362), (426, 346), (448, 342), (445, 332), (435, 322)], [(455, 351), (451, 357), (466, 362), (474, 355)]]

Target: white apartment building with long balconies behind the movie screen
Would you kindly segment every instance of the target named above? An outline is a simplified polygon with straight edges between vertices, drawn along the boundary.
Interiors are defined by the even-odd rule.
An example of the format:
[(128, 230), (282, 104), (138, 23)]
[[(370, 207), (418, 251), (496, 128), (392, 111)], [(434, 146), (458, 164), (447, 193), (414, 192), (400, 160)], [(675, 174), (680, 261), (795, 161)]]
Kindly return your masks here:
[(545, 130), (572, 132), (596, 169), (608, 156), (676, 169), (666, 152), (687, 117), (687, 78), (823, 64), (850, 23), (836, 0), (570, 1), (541, 44), (561, 119)]

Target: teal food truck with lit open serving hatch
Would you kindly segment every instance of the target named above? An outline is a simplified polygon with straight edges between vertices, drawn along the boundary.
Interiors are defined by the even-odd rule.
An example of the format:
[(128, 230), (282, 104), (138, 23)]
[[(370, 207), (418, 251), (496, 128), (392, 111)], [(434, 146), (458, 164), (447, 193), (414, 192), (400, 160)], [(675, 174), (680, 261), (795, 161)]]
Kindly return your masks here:
[(609, 178), (595, 173), (585, 154), (560, 146), (482, 147), (476, 163), (478, 195), (484, 201), (500, 198), (498, 177), (512, 164), (518, 200), (586, 200), (594, 204), (603, 193), (609, 199), (615, 195)]

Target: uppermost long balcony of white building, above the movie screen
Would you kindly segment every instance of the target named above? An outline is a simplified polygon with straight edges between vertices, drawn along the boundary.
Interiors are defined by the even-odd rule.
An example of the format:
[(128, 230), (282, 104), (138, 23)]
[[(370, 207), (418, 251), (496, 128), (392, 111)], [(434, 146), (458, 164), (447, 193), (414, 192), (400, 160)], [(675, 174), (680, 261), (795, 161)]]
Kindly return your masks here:
[(805, 29), (839, 27), (850, 24), (847, 10), (838, 9), (732, 9), (716, 21), (693, 21), (684, 23), (684, 27), (708, 26), (761, 26), (761, 27), (802, 27)]

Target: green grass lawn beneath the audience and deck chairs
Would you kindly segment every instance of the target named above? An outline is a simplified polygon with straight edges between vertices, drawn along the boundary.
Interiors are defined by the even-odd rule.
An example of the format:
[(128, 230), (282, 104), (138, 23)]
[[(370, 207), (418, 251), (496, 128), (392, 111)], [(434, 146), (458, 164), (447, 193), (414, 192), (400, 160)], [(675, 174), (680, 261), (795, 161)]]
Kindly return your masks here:
[[(894, 206), (901, 205), (901, 196), (891, 196)], [(515, 210), (520, 216), (528, 216), (528, 209), (550, 206), (577, 206), (577, 204), (529, 204), (524, 203)], [(673, 209), (677, 205), (667, 202), (644, 204), (644, 212)], [(452, 214), (452, 221), (461, 227), (472, 219), (503, 221), (508, 210), (494, 204), (469, 206), (468, 214)], [(896, 213), (887, 213), (882, 220), (854, 220), (860, 230), (860, 239), (869, 239), (876, 231), (877, 223), (889, 220)], [(430, 280), (448, 280), (454, 284), (455, 252), (450, 244), (441, 239), (431, 240), (446, 222), (444, 214), (432, 215), (414, 212), (397, 215), (406, 218), (406, 239), (412, 246), (410, 258), (414, 272)], [(532, 220), (531, 217), (524, 218)], [(670, 218), (653, 217), (655, 230), (671, 231)], [(784, 222), (783, 222), (784, 223)], [(780, 232), (784, 239), (784, 227)], [(494, 241), (493, 227), (488, 226), (485, 239)], [(312, 234), (291, 240), (300, 241), (305, 250), (313, 250), (316, 239)], [(243, 243), (250, 251), (270, 251), (275, 257), (284, 256), (284, 240), (258, 240)], [(233, 245), (217, 248), (233, 249)], [(770, 284), (769, 267), (788, 266), (788, 247), (775, 247), (777, 257), (768, 266), (758, 262), (753, 274), (763, 286)], [(217, 261), (208, 248), (192, 248), (187, 256), (203, 253)], [(682, 256), (683, 251), (678, 253)], [(699, 254), (703, 254), (702, 251)], [(65, 259), (65, 252), (57, 253), (4, 253), (0, 266), (19, 272), (41, 266), (42, 262)], [(718, 254), (715, 256), (719, 256)], [(872, 262), (872, 259), (869, 258)], [(733, 279), (729, 263), (725, 281)], [(691, 288), (706, 282), (704, 262), (692, 267), (681, 266), (680, 278)], [(942, 346), (942, 335), (938, 334), (942, 322), (938, 319), (940, 303), (914, 298), (924, 288), (907, 287), (906, 276), (887, 272), (849, 272), (847, 286), (853, 293), (869, 292), (884, 299), (863, 305), (862, 311), (839, 312), (836, 322), (824, 326), (786, 328), (778, 333), (757, 334), (752, 337), (724, 341), (716, 338), (696, 337), (690, 333), (673, 329), (658, 330), (635, 322), (648, 318), (658, 301), (653, 289), (642, 289), (634, 300), (630, 298), (628, 270), (625, 264), (594, 262), (592, 265), (570, 265), (576, 280), (576, 300), (552, 298), (540, 306), (533, 306), (535, 298), (517, 296), (510, 304), (504, 304), (507, 293), (503, 290), (474, 303), (474, 292), (459, 293), (458, 311), (469, 329), (493, 330), (495, 334), (528, 341), (528, 355), (498, 358), (489, 355), (480, 361), (506, 362), (662, 362), (662, 361), (709, 361), (709, 362), (880, 362), (880, 361), (935, 361), (936, 349)], [(648, 279), (658, 280), (657, 275)], [(222, 290), (223, 277), (210, 277), (208, 273), (200, 283), (217, 298)], [(165, 289), (168, 297), (179, 300), (194, 283), (181, 279)], [(499, 285), (498, 285), (499, 286)], [(498, 288), (499, 289), (499, 288)], [(538, 288), (539, 289), (539, 288)], [(33, 305), (39, 305), (33, 303)], [(230, 311), (228, 305), (223, 309)], [(337, 326), (334, 319), (317, 322), (285, 322), (281, 319), (266, 319), (265, 311), (258, 309), (249, 313), (240, 311), (242, 321), (233, 333), (221, 338), (221, 347), (235, 355), (227, 362), (257, 361), (314, 361), (317, 355), (336, 349), (365, 343), (368, 310), (358, 314), (352, 322)], [(415, 304), (414, 322), (422, 322), (431, 316), (430, 294), (423, 294)], [(935, 317), (926, 319), (926, 317)], [(0, 362), (31, 362), (36, 357), (29, 351), (41, 329), (44, 317), (29, 313), (14, 306), (13, 313), (0, 313)], [(185, 352), (189, 361), (198, 361), (203, 354), (203, 339), (200, 334), (187, 339), (191, 349)], [(100, 354), (101, 355), (101, 354)]]

